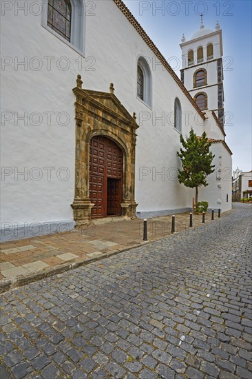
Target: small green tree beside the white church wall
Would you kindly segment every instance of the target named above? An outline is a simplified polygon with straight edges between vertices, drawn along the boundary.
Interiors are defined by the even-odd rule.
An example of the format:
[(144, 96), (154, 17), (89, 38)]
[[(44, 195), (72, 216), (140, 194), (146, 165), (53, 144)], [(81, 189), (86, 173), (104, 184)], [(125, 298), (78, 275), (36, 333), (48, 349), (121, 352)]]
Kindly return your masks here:
[(180, 135), (180, 142), (185, 150), (180, 148), (177, 152), (182, 163), (182, 170), (178, 170), (178, 181), (186, 187), (196, 189), (196, 209), (198, 207), (198, 187), (204, 185), (206, 187), (207, 175), (214, 172), (215, 165), (212, 165), (214, 155), (210, 152), (211, 142), (207, 139), (206, 132), (201, 137), (191, 129), (189, 137), (186, 141)]

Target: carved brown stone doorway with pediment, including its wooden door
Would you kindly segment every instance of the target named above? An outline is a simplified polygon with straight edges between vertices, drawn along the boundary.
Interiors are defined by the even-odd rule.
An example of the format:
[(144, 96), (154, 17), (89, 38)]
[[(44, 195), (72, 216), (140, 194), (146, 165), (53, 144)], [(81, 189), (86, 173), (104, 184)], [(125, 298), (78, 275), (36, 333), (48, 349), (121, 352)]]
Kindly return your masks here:
[[(82, 225), (90, 223), (92, 218), (104, 216), (136, 218), (136, 115), (131, 116), (123, 107), (114, 95), (112, 84), (108, 93), (84, 90), (82, 83), (81, 76), (78, 75), (77, 87), (73, 90), (76, 96), (75, 194), (71, 204), (74, 221), (76, 225)], [(105, 167), (107, 174), (103, 181), (101, 176), (94, 176), (92, 149), (97, 141), (106, 143), (107, 161), (103, 168)], [(114, 174), (108, 174), (109, 159), (111, 161), (108, 158), (109, 148), (114, 148), (114, 154), (117, 154)], [(101, 155), (98, 153), (99, 158)], [(95, 181), (97, 187), (94, 185)], [(104, 203), (94, 200), (95, 192), (99, 191), (104, 194)]]

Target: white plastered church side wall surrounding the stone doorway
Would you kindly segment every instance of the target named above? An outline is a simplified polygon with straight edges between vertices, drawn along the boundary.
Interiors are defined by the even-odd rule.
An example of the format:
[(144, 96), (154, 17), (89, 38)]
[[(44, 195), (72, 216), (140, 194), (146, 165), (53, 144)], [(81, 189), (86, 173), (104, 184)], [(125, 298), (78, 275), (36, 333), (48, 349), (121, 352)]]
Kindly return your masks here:
[[(19, 1), (19, 6), (21, 3)], [(43, 28), (41, 15), (25, 16), (23, 12), (15, 15), (14, 10), (10, 10), (2, 17), (3, 56), (10, 57), (13, 62), (27, 57), (30, 63), (25, 68), (19, 65), (16, 69), (14, 63), (10, 63), (2, 71), (2, 111), (10, 112), (5, 117), (11, 118), (1, 123), (2, 165), (9, 167), (5, 169), (9, 175), (1, 183), (2, 221), (72, 220), (70, 204), (74, 198), (75, 165), (75, 98), (72, 88), (76, 86), (77, 74), (83, 77), (83, 88), (90, 90), (109, 92), (109, 84), (114, 83), (120, 102), (130, 114), (136, 112), (140, 125), (136, 146), (138, 212), (191, 206), (191, 192), (173, 180), (176, 173), (172, 167), (180, 165), (176, 156), (180, 147), (179, 134), (171, 122), (176, 96), (184, 112), (182, 134), (188, 135), (191, 127), (197, 134), (202, 134), (202, 120), (170, 74), (156, 65), (158, 59), (114, 2), (95, 1), (95, 5), (95, 15), (86, 16), (85, 20), (85, 57)], [(136, 63), (140, 55), (150, 62), (152, 109), (136, 98)], [(33, 57), (39, 57), (38, 61), (42, 62), (40, 70), (32, 67), (32, 63), (34, 66), (36, 63)], [(45, 57), (52, 57), (50, 70)], [(64, 63), (69, 65), (67, 70), (64, 70)], [(27, 125), (17, 120), (17, 116), (23, 116), (24, 112), (28, 114)], [(34, 125), (34, 112), (42, 116), (39, 125)], [(45, 112), (54, 112), (51, 125), (48, 125), (48, 113)], [(66, 125), (62, 125), (62, 112), (67, 114)], [(59, 114), (62, 119), (57, 121)], [(158, 121), (157, 117), (162, 120)], [(143, 118), (147, 120), (143, 121)], [(211, 125), (210, 129), (213, 134), (214, 130), (218, 133), (216, 125)], [(15, 167), (19, 171), (28, 168), (27, 180), (22, 176), (15, 177)], [(42, 172), (41, 180), (35, 181), (29, 176), (32, 167), (39, 167), (37, 172)], [(55, 167), (51, 180), (45, 167)], [(70, 176), (66, 181), (63, 180), (64, 170), (56, 175), (61, 167), (66, 167), (65, 174)], [(140, 176), (141, 167), (147, 167), (145, 172), (149, 174)], [(163, 174), (158, 175), (158, 172)], [(35, 176), (36, 171), (32, 173)], [(211, 191), (211, 187), (207, 190)]]

